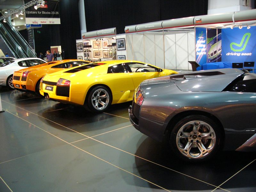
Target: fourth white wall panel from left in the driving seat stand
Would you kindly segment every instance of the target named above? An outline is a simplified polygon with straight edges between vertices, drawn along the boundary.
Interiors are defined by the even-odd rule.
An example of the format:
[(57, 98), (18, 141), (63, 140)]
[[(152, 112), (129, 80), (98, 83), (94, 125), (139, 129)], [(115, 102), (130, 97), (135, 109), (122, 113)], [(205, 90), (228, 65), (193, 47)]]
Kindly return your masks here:
[(155, 35), (156, 66), (164, 68), (164, 39), (163, 35)]

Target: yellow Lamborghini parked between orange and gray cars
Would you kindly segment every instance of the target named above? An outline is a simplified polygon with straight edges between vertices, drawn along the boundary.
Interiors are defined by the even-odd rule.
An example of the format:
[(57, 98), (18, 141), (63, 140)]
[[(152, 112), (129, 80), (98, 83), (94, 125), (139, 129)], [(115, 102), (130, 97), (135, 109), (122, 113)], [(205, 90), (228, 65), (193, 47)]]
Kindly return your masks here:
[(103, 112), (110, 104), (131, 101), (143, 80), (176, 73), (140, 61), (96, 62), (44, 76), (40, 94), (46, 99)]

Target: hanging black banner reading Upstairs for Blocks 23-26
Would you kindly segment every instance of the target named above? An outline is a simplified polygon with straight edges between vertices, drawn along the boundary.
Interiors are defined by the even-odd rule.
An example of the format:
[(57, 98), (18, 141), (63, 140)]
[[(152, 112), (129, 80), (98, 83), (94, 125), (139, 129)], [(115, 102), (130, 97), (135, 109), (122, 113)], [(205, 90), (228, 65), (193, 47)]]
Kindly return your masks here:
[[(28, 3), (31, 0), (25, 0)], [(60, 24), (59, 1), (45, 0), (45, 4), (25, 9), (26, 24)]]

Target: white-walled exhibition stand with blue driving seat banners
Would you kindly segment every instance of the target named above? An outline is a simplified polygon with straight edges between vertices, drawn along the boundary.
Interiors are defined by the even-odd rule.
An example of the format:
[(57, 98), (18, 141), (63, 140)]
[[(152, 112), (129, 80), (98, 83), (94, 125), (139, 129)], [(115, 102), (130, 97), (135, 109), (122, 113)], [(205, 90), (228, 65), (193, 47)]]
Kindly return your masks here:
[(191, 70), (188, 61), (256, 60), (256, 9), (126, 26), (127, 59)]

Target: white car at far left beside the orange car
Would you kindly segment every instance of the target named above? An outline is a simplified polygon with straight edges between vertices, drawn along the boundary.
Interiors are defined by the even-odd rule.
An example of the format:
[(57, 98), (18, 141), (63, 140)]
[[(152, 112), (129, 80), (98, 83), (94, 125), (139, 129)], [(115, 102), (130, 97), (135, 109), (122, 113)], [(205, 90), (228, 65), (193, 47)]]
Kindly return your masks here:
[(0, 86), (7, 86), (14, 89), (12, 76), (14, 71), (46, 63), (39, 58), (14, 59), (0, 64)]

